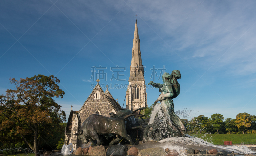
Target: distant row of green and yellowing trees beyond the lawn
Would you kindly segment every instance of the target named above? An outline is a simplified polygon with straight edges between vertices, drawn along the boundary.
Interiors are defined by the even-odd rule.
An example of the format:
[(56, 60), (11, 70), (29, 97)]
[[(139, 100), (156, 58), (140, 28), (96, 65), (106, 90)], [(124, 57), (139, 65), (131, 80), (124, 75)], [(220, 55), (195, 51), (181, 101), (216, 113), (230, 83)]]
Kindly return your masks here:
[(221, 114), (213, 114), (210, 118), (199, 115), (190, 121), (181, 119), (188, 134), (206, 134), (206, 133), (253, 133), (256, 134), (256, 116), (248, 113), (239, 113), (236, 119), (227, 118)]

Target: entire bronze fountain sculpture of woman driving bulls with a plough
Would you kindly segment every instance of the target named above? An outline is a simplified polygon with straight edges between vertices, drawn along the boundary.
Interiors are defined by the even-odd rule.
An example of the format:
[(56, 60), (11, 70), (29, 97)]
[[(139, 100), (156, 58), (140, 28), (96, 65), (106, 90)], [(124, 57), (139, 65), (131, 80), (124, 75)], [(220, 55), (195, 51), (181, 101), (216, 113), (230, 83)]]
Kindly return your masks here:
[[(164, 73), (162, 78), (163, 84), (154, 83), (153, 81), (148, 83), (148, 85), (158, 88), (159, 92), (161, 92), (153, 104), (153, 108), (160, 108), (160, 111), (155, 115), (151, 115), (150, 121), (154, 122), (150, 122), (148, 119), (145, 123), (143, 119), (139, 121), (134, 118), (134, 116), (140, 118), (145, 116), (133, 114), (145, 108), (139, 108), (133, 112), (130, 110), (120, 110), (116, 114), (110, 113), (111, 118), (93, 114), (84, 121), (81, 129), (74, 135), (77, 135), (77, 138), (82, 140), (83, 143), (87, 143), (89, 139), (91, 142), (92, 140), (96, 140), (97, 143), (95, 143), (95, 145), (113, 145), (123, 138), (128, 140), (130, 145), (134, 145), (135, 141), (138, 142), (139, 139), (142, 140), (143, 138), (147, 141), (160, 141), (168, 137), (185, 137), (186, 128), (180, 118), (174, 113), (172, 100), (180, 93), (180, 85), (177, 81), (181, 78), (180, 71), (173, 70), (171, 75)], [(136, 129), (137, 135), (134, 135), (133, 130)], [(140, 133), (138, 133), (138, 130), (140, 130)], [(100, 136), (104, 136), (107, 139), (109, 137), (112, 138), (110, 142), (107, 142), (107, 139), (102, 142)]]

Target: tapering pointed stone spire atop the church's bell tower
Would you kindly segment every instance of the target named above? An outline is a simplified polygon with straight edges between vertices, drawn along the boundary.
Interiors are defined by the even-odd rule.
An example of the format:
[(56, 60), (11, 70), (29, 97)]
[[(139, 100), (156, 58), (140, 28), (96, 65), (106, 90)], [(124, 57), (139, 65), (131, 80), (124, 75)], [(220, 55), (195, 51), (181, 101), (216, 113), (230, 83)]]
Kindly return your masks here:
[(129, 81), (145, 81), (144, 80), (144, 67), (142, 65), (141, 52), (140, 52), (140, 39), (137, 27), (137, 19), (135, 22), (135, 30), (132, 46), (132, 62), (130, 66)]

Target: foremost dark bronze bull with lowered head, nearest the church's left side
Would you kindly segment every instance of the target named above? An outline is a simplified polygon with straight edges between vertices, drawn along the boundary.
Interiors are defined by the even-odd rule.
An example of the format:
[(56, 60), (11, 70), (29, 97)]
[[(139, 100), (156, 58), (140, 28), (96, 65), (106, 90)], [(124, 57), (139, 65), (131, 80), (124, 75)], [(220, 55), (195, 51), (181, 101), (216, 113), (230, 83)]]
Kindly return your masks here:
[[(77, 138), (84, 143), (88, 143), (89, 139), (92, 138), (93, 140), (97, 141), (96, 145), (100, 145), (99, 135), (110, 137), (116, 134), (117, 136), (128, 140), (130, 145), (134, 145), (132, 138), (129, 134), (127, 134), (125, 126), (125, 119), (130, 116), (143, 117), (145, 115), (129, 114), (121, 118), (109, 118), (102, 115), (92, 114), (83, 122), (78, 133), (74, 135), (77, 135)], [(113, 145), (117, 141), (121, 140), (120, 137), (112, 140), (109, 145)]]

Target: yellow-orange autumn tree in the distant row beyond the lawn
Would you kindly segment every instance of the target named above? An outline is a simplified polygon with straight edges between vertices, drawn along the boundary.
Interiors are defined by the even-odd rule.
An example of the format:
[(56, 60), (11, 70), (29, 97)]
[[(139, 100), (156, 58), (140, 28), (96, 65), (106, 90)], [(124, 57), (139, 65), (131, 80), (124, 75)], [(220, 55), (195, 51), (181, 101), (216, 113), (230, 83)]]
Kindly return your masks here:
[(239, 113), (236, 115), (236, 127), (244, 134), (249, 127), (251, 127), (251, 115), (249, 113)]

